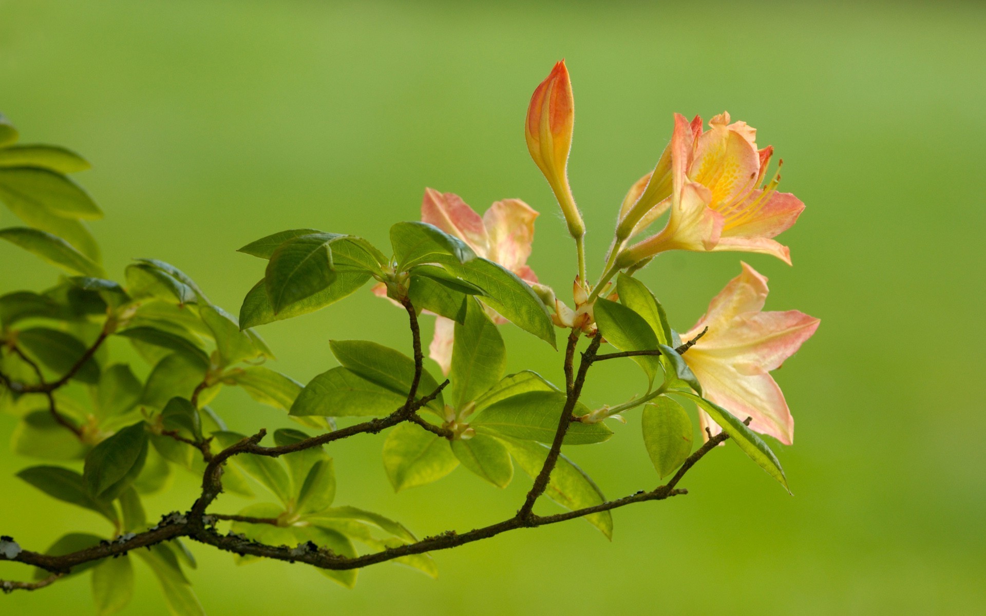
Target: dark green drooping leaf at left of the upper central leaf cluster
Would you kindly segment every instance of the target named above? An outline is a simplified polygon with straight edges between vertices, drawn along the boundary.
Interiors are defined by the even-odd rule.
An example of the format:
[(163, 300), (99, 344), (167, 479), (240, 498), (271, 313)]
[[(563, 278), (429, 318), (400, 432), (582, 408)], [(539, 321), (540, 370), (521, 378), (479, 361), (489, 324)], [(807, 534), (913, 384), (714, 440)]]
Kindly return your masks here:
[(275, 314), (332, 284), (335, 270), (329, 244), (342, 237), (338, 234), (301, 236), (285, 241), (274, 250), (263, 280)]

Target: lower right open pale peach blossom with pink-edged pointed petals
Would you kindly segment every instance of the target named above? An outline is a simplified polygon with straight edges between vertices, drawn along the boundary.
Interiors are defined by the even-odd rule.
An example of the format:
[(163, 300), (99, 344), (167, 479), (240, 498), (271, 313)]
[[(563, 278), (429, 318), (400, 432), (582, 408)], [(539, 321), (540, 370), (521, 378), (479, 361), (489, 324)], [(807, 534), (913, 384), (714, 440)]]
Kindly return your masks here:
[[(742, 263), (742, 273), (713, 298), (708, 311), (682, 340), (709, 328), (682, 355), (702, 383), (705, 397), (740, 419), (751, 417), (750, 429), (784, 445), (794, 441), (794, 419), (770, 371), (781, 367), (818, 328), (818, 319), (798, 310), (764, 312), (767, 279)], [(721, 432), (699, 411), (703, 433)]]

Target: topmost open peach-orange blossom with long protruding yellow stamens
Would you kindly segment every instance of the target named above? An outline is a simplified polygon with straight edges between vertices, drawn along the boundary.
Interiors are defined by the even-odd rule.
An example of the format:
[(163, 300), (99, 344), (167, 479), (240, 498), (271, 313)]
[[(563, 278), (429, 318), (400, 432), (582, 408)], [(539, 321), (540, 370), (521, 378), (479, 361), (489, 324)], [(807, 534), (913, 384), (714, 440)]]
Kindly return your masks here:
[(629, 266), (665, 250), (761, 252), (791, 264), (788, 247), (773, 238), (798, 220), (805, 204), (777, 192), (779, 176), (761, 185), (773, 148), (757, 149), (756, 131), (730, 122), (729, 113), (688, 122), (674, 115), (669, 148), (655, 171), (631, 187), (623, 201), (617, 240), (627, 240), (670, 209), (658, 235), (630, 246), (619, 263)]

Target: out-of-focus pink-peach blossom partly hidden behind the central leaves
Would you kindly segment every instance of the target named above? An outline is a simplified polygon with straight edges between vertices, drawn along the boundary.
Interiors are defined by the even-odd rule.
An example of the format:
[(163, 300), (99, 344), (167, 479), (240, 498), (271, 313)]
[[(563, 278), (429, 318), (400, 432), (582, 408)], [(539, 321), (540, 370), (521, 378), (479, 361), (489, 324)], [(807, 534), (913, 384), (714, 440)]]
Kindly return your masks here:
[[(479, 256), (496, 261), (517, 274), (528, 284), (537, 283), (537, 276), (528, 267), (530, 244), (534, 240), (534, 219), (538, 213), (520, 199), (503, 199), (479, 216), (458, 194), (425, 188), (421, 201), (421, 221), (438, 227), (445, 233), (464, 241)], [(374, 292), (387, 296), (387, 288), (377, 285)], [(507, 320), (491, 313), (497, 323)], [(456, 322), (439, 316), (435, 337), (428, 355), (438, 362), (445, 374), (452, 365), (452, 348)]]

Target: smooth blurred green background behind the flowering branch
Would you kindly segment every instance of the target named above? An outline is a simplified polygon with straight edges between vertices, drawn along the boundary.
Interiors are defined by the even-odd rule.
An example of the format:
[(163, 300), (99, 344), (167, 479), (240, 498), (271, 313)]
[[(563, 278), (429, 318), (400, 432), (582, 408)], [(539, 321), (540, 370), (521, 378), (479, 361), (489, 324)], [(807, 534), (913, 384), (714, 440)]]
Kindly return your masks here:
[[(656, 161), (673, 111), (725, 108), (758, 128), (786, 162), (782, 189), (808, 205), (782, 237), (794, 268), (670, 253), (641, 275), (679, 329), (740, 258), (770, 277), (768, 309), (821, 318), (776, 374), (797, 421), (796, 445), (777, 445), (793, 497), (728, 444), (689, 474), (689, 496), (616, 512), (611, 543), (582, 521), (522, 530), (436, 554), (438, 581), (382, 565), (345, 590), (303, 566), (238, 568), (193, 546), (210, 614), (973, 614), (986, 601), (984, 40), (986, 7), (972, 2), (0, 0), (0, 109), (25, 142), (93, 162), (77, 178), (106, 210), (94, 229), (110, 272), (161, 258), (233, 311), (262, 272), (237, 247), (296, 227), (386, 245), (426, 185), (480, 211), (527, 200), (543, 213), (531, 264), (566, 288), (570, 240), (522, 127), (561, 57), (597, 273), (618, 203)], [(54, 278), (0, 246), (0, 291)], [(260, 332), (275, 368), (303, 381), (333, 365), (329, 338), (406, 337), (369, 291)], [(511, 369), (560, 379), (558, 354), (505, 333)], [(603, 365), (588, 401), (619, 402), (642, 383)], [(288, 424), (238, 391), (215, 407), (242, 431)], [(607, 496), (658, 481), (631, 415), (609, 443), (572, 451)], [(0, 441), (15, 422), (0, 417)], [(381, 442), (332, 445), (338, 502), (420, 534), (508, 516), (528, 486), (522, 474), (502, 494), (458, 470), (395, 495)], [(106, 532), (12, 476), (33, 463), (0, 457), (0, 531), (33, 549)], [(149, 513), (186, 507), (194, 488), (181, 476)], [(216, 509), (239, 506), (223, 497)], [(90, 614), (88, 583), (3, 596), (0, 612)], [(146, 569), (124, 613), (167, 613)]]

